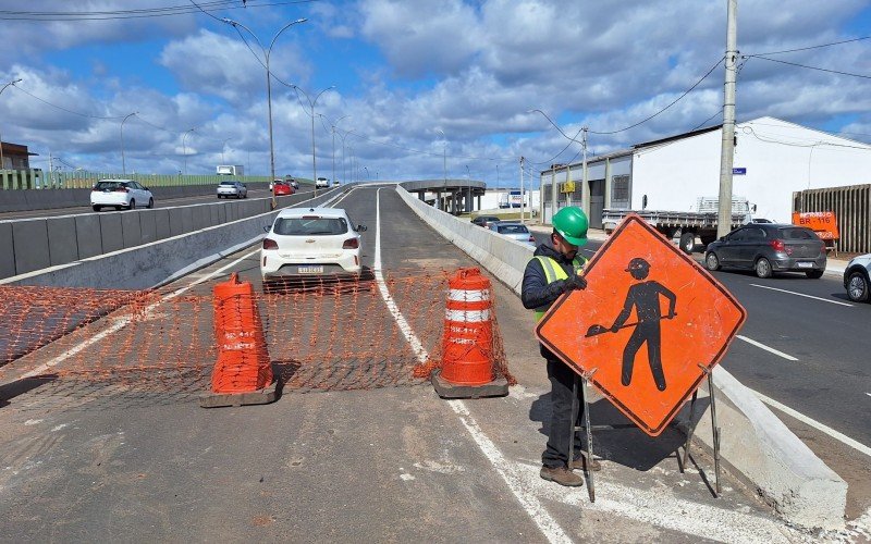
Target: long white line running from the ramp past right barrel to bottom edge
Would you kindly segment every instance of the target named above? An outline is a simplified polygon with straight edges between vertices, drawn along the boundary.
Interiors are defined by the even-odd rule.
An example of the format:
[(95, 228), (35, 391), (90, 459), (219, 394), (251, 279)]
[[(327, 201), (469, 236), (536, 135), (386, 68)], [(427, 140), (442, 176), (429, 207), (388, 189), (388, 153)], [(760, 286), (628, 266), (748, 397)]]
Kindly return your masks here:
[[(387, 305), (390, 313), (393, 316), (393, 319), (396, 321), (396, 324), (400, 326), (400, 330), (408, 339), (408, 343), (412, 346), (412, 349), (417, 357), (417, 360), (421, 363), (427, 362), (429, 359), (429, 355), (427, 350), (424, 348), (424, 345), (417, 338), (412, 327), (408, 325), (408, 322), (403, 317), (402, 312), (400, 311), (396, 302), (393, 300), (393, 297), (390, 296), (390, 292), (388, 290), (387, 283), (384, 283), (384, 277), (381, 274), (381, 189), (379, 188), (376, 191), (376, 212), (375, 212), (375, 224), (376, 224), (376, 238), (375, 238), (375, 263), (372, 268), (375, 269), (375, 279), (376, 283), (378, 284), (378, 290), (381, 293), (381, 298), (384, 299), (384, 304)], [(487, 437), (487, 435), (481, 431), (478, 426), (478, 423), (469, 413), (466, 405), (463, 404), (462, 400), (449, 400), (449, 405), (451, 408), (459, 416), (459, 420), (463, 422), (463, 425), (468, 430), (469, 434), (471, 434), (473, 440), (475, 443), (478, 444), (478, 447), (484, 454), (484, 456), (490, 460), (493, 465), (493, 468), (496, 470), (502, 480), (508, 485), (508, 489), (512, 491), (514, 496), (517, 500), (523, 505), (526, 512), (532, 518), (532, 521), (538, 526), (539, 530), (542, 532), (548, 542), (553, 543), (571, 543), (572, 539), (562, 530), (560, 524), (554, 520), (544, 506), (539, 502), (538, 498), (531, 493), (529, 493), (528, 487), (523, 485), (523, 481), (516, 478), (512, 478), (503, 468), (505, 466), (505, 458), (502, 456), (502, 453), (496, 448), (496, 446)]]

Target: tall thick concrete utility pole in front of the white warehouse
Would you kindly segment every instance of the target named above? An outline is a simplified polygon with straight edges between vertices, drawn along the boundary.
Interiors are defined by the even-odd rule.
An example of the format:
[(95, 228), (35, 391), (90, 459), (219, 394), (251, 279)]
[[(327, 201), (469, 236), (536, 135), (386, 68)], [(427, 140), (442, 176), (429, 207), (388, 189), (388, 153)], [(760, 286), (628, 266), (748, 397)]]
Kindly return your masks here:
[(738, 0), (728, 1), (726, 24), (726, 81), (723, 89), (723, 140), (720, 151), (720, 202), (716, 236), (732, 230), (732, 166), (735, 162), (735, 64), (738, 60)]

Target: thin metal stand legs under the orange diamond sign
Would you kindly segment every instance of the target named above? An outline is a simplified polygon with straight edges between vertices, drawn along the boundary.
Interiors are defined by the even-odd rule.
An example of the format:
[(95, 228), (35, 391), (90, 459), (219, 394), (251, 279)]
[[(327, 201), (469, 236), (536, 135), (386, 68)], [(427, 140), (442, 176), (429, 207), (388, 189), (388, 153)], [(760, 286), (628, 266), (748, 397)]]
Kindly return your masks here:
[[(707, 367), (702, 367), (699, 364), (699, 368), (704, 372), (708, 376), (708, 391), (711, 397), (711, 431), (713, 434), (713, 442), (714, 442), (714, 478), (715, 478), (715, 493), (714, 496), (719, 497), (721, 493), (720, 487), (720, 426), (716, 423), (716, 403), (714, 397), (714, 382), (711, 374), (711, 369)], [(587, 434), (587, 449), (581, 449), (580, 453), (584, 455), (586, 462), (585, 468), (586, 477), (587, 477), (587, 490), (590, 495), (590, 503), (596, 503), (596, 481), (593, 479), (593, 471), (590, 470), (590, 462), (594, 459), (593, 457), (593, 449), (592, 449), (592, 431), (613, 431), (617, 429), (635, 429), (637, 425), (634, 423), (618, 423), (614, 425), (591, 425), (590, 424), (590, 404), (587, 397), (587, 382), (590, 381), (590, 378), (596, 373), (597, 369), (592, 369), (589, 372), (585, 372), (582, 374), (575, 374), (574, 384), (572, 387), (573, 395), (572, 395), (572, 434), (571, 440), (568, 441), (568, 459), (569, 462), (572, 459), (575, 458), (575, 433), (580, 430), (586, 431)], [(582, 382), (582, 383), (579, 383)], [(578, 385), (580, 385), (580, 396), (581, 401), (584, 403), (584, 424), (576, 425), (575, 422), (578, 417)], [(692, 425), (692, 418), (696, 415), (696, 399), (698, 397), (698, 390), (692, 392), (692, 399), (689, 401), (689, 429), (687, 430), (687, 441), (684, 444), (684, 455), (683, 457), (679, 454), (679, 446), (678, 450), (675, 452), (675, 457), (678, 460), (680, 472), (683, 473), (687, 466), (687, 460), (689, 457), (689, 444), (692, 441), (692, 430), (695, 426)], [(682, 462), (683, 460), (683, 462)]]

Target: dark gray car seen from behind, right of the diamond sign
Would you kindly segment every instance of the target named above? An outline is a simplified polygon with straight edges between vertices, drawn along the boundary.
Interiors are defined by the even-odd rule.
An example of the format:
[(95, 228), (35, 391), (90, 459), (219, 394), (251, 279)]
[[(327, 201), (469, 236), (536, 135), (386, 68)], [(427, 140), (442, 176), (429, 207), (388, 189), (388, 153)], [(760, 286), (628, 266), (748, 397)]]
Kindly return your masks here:
[(817, 279), (825, 272), (825, 244), (805, 226), (752, 223), (708, 244), (704, 265), (753, 270), (759, 277), (803, 272)]

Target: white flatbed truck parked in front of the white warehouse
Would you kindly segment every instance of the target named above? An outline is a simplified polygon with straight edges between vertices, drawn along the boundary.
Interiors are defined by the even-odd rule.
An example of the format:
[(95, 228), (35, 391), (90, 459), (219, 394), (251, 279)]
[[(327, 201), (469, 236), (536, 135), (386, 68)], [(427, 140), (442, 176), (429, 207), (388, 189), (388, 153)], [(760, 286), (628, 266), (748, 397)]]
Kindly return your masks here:
[[(699, 197), (696, 211), (605, 209), (602, 211), (602, 227), (611, 234), (627, 214), (637, 213), (666, 238), (679, 238), (680, 249), (691, 254), (696, 247), (696, 236), (706, 247), (716, 239), (719, 201), (716, 197)], [(756, 205), (750, 205), (744, 197), (733, 197), (729, 231), (752, 222), (753, 211)]]

